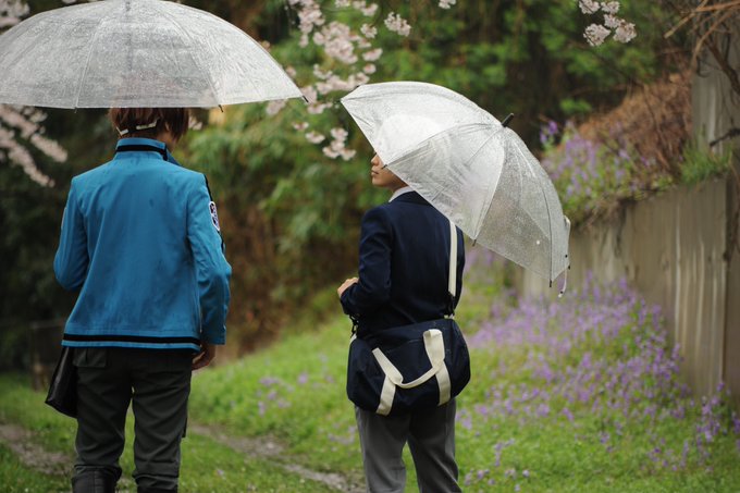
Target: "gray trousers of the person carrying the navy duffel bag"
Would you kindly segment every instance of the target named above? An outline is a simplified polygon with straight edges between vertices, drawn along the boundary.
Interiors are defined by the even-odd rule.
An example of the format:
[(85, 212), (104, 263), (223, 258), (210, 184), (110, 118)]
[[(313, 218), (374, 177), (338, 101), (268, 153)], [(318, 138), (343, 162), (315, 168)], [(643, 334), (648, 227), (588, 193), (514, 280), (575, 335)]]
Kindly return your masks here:
[(455, 399), (407, 416), (380, 416), (355, 407), (368, 492), (404, 492), (407, 442), (420, 493), (461, 491), (455, 463)]

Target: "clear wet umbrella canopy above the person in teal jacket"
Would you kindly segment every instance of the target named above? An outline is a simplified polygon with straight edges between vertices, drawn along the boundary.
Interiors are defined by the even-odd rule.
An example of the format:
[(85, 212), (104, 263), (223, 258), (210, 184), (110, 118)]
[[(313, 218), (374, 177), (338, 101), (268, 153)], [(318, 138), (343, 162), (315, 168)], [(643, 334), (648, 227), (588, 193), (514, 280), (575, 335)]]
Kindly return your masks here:
[(3, 103), (210, 108), (301, 96), (246, 33), (170, 1), (65, 7), (0, 36)]

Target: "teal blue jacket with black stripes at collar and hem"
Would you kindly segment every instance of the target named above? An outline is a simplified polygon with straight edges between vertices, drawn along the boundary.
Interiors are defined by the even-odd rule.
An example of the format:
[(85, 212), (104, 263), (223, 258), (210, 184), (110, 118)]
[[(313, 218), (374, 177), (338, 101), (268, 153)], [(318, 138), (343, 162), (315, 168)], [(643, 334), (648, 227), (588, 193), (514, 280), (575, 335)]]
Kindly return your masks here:
[(79, 289), (63, 345), (186, 348), (225, 343), (231, 267), (206, 176), (159, 140), (119, 140), (72, 180), (57, 280)]

